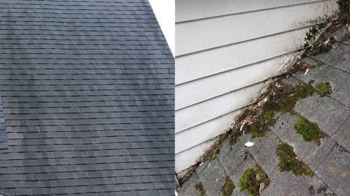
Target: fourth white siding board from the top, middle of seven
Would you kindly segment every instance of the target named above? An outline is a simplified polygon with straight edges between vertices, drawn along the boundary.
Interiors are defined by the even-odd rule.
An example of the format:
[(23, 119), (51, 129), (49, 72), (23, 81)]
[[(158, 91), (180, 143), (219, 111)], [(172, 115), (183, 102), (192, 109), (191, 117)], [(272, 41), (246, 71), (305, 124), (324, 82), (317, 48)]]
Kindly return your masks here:
[(176, 110), (274, 77), (279, 74), (280, 68), (285, 67), (285, 62), (292, 58), (294, 54), (286, 54), (176, 86)]

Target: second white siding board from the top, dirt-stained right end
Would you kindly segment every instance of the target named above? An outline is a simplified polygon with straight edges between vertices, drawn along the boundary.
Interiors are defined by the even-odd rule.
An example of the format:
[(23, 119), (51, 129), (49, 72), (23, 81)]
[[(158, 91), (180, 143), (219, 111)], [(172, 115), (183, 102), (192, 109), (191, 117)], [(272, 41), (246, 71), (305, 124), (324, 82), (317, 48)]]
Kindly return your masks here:
[(317, 24), (337, 2), (320, 1), (176, 24), (176, 56)]

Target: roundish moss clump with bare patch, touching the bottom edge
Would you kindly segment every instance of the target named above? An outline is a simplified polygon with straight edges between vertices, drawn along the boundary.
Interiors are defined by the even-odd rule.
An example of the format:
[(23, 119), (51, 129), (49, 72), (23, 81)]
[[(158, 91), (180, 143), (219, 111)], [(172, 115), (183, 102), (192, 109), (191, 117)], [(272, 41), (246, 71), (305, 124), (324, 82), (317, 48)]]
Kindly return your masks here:
[(269, 178), (264, 170), (258, 165), (255, 168), (248, 168), (239, 179), (239, 187), (241, 191), (246, 192), (249, 196), (259, 196), (260, 186), (262, 190), (269, 186)]

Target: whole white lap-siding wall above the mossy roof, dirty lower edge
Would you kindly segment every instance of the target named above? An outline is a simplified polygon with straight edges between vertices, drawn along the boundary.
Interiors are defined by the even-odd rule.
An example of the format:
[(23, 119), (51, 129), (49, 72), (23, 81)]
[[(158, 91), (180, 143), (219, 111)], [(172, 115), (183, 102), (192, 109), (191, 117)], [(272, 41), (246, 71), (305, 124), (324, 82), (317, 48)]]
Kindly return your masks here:
[(176, 172), (195, 164), (337, 1), (176, 0)]

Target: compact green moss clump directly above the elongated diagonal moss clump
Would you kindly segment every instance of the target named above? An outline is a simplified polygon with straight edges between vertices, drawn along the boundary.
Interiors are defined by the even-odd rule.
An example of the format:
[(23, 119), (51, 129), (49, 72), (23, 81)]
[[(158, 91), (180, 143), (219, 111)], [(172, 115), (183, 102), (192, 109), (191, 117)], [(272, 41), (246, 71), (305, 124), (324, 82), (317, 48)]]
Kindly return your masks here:
[(317, 123), (311, 123), (302, 116), (300, 116), (299, 121), (295, 123), (294, 128), (297, 130), (297, 133), (304, 137), (305, 141), (314, 141), (317, 145), (321, 144), (320, 139), (325, 136), (320, 128), (318, 128)]

